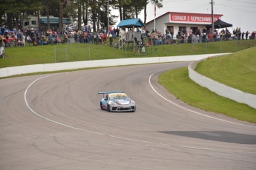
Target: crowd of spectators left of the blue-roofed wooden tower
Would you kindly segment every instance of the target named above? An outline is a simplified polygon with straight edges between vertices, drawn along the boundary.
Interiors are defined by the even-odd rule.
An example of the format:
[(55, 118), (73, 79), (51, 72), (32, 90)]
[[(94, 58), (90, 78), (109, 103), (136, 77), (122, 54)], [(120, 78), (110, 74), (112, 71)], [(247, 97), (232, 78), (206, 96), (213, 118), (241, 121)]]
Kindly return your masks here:
[[(119, 36), (119, 28), (109, 27), (109, 41), (112, 45), (113, 39)], [(76, 43), (106, 44), (107, 31), (101, 28), (98, 32), (92, 32), (90, 25), (85, 25), (81, 30), (74, 30), (67, 26), (64, 31), (59, 33), (56, 28), (50, 30), (8, 30), (3, 26), (0, 30), (0, 46), (5, 47), (24, 47), (26, 43), (38, 46), (44, 44), (65, 43), (66, 41), (75, 41)]]

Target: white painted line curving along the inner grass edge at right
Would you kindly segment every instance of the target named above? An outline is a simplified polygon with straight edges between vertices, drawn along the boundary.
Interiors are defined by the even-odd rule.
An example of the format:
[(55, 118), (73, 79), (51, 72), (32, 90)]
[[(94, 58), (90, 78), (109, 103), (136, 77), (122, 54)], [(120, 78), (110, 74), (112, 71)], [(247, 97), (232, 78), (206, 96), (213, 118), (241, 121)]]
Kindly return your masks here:
[[(163, 71), (165, 71), (165, 70), (167, 70), (167, 69), (163, 69), (163, 70), (161, 70), (161, 71), (159, 71), (159, 72), (163, 72)], [(159, 95), (161, 98), (165, 99), (165, 101), (168, 101), (169, 103), (172, 103), (172, 104), (174, 104), (175, 106), (180, 107), (181, 109), (186, 109), (186, 110), (189, 111), (189, 112), (194, 112), (194, 113), (196, 113), (197, 115), (203, 115), (203, 116), (208, 117), (208, 118), (212, 118), (212, 119), (224, 121), (224, 122), (227, 122), (227, 123), (233, 123), (233, 124), (237, 124), (237, 125), (240, 125), (240, 126), (247, 126), (247, 127), (256, 128), (256, 126), (249, 126), (249, 125), (244, 125), (244, 124), (240, 124), (240, 123), (234, 123), (234, 122), (231, 122), (231, 121), (228, 121), (228, 120), (223, 120), (223, 119), (211, 117), (211, 116), (209, 116), (209, 115), (204, 115), (204, 114), (202, 114), (202, 113), (195, 112), (195, 111), (193, 111), (193, 110), (191, 110), (191, 109), (187, 109), (186, 107), (180, 106), (180, 105), (178, 105), (177, 103), (174, 103), (174, 102), (172, 102), (172, 101), (169, 101), (168, 99), (166, 99), (166, 98), (164, 98), (162, 95), (160, 95), (160, 94), (157, 92), (157, 90), (155, 90), (154, 87), (153, 87), (152, 84), (151, 84), (151, 77), (152, 77), (154, 74), (156, 74), (156, 73), (157, 73), (157, 72), (154, 72), (152, 75), (149, 76), (149, 78), (148, 78), (148, 83), (149, 83), (149, 85), (151, 86), (151, 88), (154, 90), (154, 92), (156, 92), (157, 95)]]

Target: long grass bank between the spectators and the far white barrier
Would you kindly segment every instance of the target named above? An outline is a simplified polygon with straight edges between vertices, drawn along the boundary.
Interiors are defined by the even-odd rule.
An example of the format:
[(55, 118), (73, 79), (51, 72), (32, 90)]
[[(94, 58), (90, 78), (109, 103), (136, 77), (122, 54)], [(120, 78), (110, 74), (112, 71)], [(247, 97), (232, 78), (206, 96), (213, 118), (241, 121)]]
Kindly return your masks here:
[[(114, 40), (113, 45), (117, 42)], [(236, 52), (256, 47), (256, 40), (220, 41), (198, 44), (168, 44), (146, 47), (145, 53), (138, 49), (132, 52), (132, 45), (126, 44), (123, 50), (99, 44), (59, 44), (45, 46), (8, 47), (4, 58), (0, 58), (0, 68), (30, 64), (49, 64), (67, 61), (91, 61), (112, 58), (145, 58), (159, 56), (200, 55), (211, 53)], [(56, 52), (55, 52), (56, 48)], [(65, 49), (68, 51), (65, 51)]]

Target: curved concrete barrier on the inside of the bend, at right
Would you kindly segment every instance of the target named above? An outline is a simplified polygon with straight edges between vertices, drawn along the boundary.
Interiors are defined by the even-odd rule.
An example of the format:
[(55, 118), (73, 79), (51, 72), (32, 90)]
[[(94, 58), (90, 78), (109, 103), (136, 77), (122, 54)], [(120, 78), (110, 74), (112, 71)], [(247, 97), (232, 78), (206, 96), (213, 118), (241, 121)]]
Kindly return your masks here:
[[(204, 60), (206, 60), (206, 58), (201, 59), (200, 61)], [(226, 86), (225, 84), (220, 84), (219, 82), (214, 81), (211, 78), (207, 78), (206, 76), (203, 76), (200, 73), (194, 71), (200, 61), (194, 61), (188, 66), (188, 75), (192, 81), (196, 82), (200, 86), (208, 88), (211, 90), (211, 92), (217, 93), (217, 95), (230, 98), (233, 101), (237, 101), (239, 103), (246, 103), (247, 105), (256, 109), (256, 95), (234, 89), (231, 86)]]

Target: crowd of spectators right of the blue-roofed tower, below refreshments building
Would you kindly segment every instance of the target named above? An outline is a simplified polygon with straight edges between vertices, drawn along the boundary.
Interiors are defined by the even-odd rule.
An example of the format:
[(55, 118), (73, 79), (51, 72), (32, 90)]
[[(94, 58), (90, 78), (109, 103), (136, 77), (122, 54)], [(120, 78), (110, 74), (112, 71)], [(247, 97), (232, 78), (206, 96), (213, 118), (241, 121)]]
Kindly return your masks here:
[[(140, 31), (140, 30), (139, 30)], [(202, 43), (212, 41), (232, 41), (232, 40), (248, 40), (255, 39), (255, 31), (249, 33), (242, 32), (240, 28), (234, 29), (230, 32), (228, 28), (214, 31), (206, 27), (197, 27), (197, 29), (183, 29), (181, 28), (174, 37), (174, 31), (166, 28), (165, 34), (157, 30), (149, 32), (146, 28), (142, 29), (144, 38), (153, 39), (153, 44), (177, 44), (177, 43)]]

